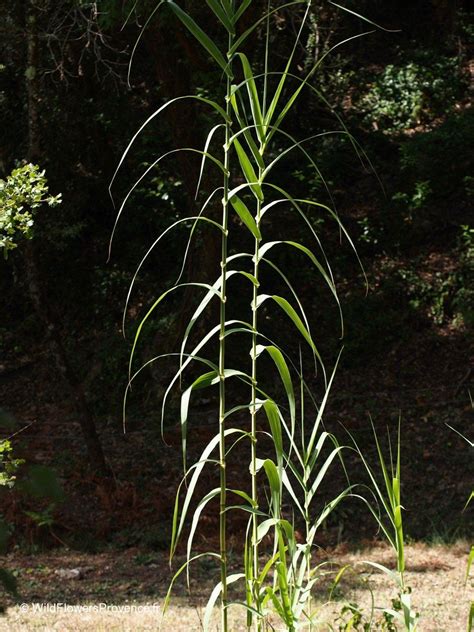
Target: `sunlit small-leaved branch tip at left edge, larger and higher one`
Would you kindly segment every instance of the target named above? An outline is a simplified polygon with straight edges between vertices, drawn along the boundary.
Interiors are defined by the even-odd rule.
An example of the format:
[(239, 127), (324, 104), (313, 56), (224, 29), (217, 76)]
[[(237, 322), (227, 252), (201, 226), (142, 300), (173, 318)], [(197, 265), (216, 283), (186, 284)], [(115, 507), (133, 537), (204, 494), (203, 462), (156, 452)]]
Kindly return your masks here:
[(21, 238), (31, 239), (36, 210), (61, 203), (61, 194), (48, 195), (45, 172), (31, 163), (14, 169), (0, 180), (0, 248), (5, 258)]

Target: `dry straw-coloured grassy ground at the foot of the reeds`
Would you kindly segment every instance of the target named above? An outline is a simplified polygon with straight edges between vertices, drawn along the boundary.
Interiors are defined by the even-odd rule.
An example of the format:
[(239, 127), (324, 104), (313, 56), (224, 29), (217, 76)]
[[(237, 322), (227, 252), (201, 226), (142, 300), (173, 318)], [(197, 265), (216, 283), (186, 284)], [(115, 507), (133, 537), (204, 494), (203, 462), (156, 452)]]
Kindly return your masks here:
[[(464, 586), (468, 545), (453, 546), (413, 544), (407, 547), (407, 583), (413, 590), (413, 603), (422, 614), (421, 632), (464, 632), (467, 627), (469, 603), (474, 599), (472, 583)], [(148, 557), (153, 560), (148, 563)], [(347, 573), (337, 594), (337, 602), (323, 606), (319, 612), (317, 629), (328, 630), (328, 621), (335, 621), (343, 604), (357, 602), (365, 612), (370, 609), (371, 591), (376, 606), (390, 606), (396, 589), (389, 579), (369, 572), (363, 560), (370, 559), (392, 566), (393, 555), (383, 545), (370, 546), (360, 551), (339, 547), (330, 555), (334, 568), (351, 564), (357, 573)], [(137, 561), (138, 560), (138, 561)], [(142, 561), (140, 561), (142, 560)], [(147, 563), (143, 563), (146, 560)], [(20, 588), (26, 606), (9, 607), (0, 619), (0, 631), (61, 630), (85, 632), (107, 630), (158, 630), (161, 604), (168, 581), (164, 554), (143, 554), (137, 550), (101, 553), (99, 555), (57, 552), (37, 556), (13, 555), (8, 566), (19, 574)], [(81, 580), (61, 579), (58, 568), (79, 567)], [(170, 632), (198, 632), (206, 595), (211, 588), (212, 573), (205, 567), (193, 574), (192, 595), (183, 586), (166, 614), (162, 630)], [(323, 603), (325, 592), (316, 595)], [(33, 604), (65, 603), (68, 606), (93, 606), (89, 610), (71, 612), (58, 608), (35, 611)], [(104, 610), (106, 604), (109, 609)], [(158, 605), (156, 605), (158, 604)], [(122, 610), (114, 611), (113, 607)], [(126, 609), (128, 608), (128, 612)], [(237, 607), (231, 615), (231, 630), (245, 630), (243, 611)], [(216, 613), (213, 629), (218, 629)], [(278, 628), (277, 628), (278, 629)]]

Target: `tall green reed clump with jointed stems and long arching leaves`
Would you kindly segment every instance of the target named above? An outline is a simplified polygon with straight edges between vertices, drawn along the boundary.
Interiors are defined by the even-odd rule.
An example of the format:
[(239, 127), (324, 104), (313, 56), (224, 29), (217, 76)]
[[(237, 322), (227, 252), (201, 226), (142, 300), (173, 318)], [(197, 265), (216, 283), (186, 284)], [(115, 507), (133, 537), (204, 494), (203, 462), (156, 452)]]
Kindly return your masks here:
[[(316, 533), (351, 488), (347, 486), (332, 501), (321, 503), (319, 509), (314, 509), (318, 506), (316, 498), (321, 483), (342, 452), (336, 438), (322, 427), (324, 408), (334, 372), (328, 379), (319, 346), (312, 332), (310, 318), (287, 271), (275, 262), (274, 253), (281, 248), (298, 253), (301, 259), (314, 269), (314, 273), (320, 276), (332, 299), (339, 306), (333, 273), (320, 235), (314, 228), (313, 216), (326, 215), (334, 222), (335, 230), (344, 235), (352, 247), (353, 244), (334, 208), (319, 200), (295, 195), (282, 187), (274, 174), (276, 166), (281, 167), (282, 161), (290, 153), (298, 153), (300, 160), (307, 162), (314, 169), (316, 176), (326, 184), (317, 162), (305, 148), (308, 141), (316, 142), (324, 133), (298, 140), (284, 129), (284, 123), (304, 90), (309, 90), (315, 98), (324, 101), (324, 96), (317, 88), (317, 71), (332, 50), (353, 38), (338, 42), (316, 61), (306, 75), (300, 76), (295, 69), (295, 62), (298, 47), (302, 44), (308, 26), (311, 11), (309, 0), (292, 0), (278, 3), (278, 6), (268, 1), (260, 17), (245, 27), (241, 26), (242, 18), (252, 4), (257, 4), (254, 0), (206, 0), (206, 4), (223, 32), (223, 37), (219, 37), (218, 41), (214, 41), (190, 13), (172, 0), (159, 2), (143, 28), (147, 27), (159, 11), (166, 10), (174, 14), (193, 36), (196, 44), (216, 65), (223, 78), (223, 89), (217, 89), (216, 96), (212, 98), (197, 94), (179, 96), (156, 110), (131, 139), (117, 167), (114, 180), (137, 138), (166, 108), (178, 106), (179, 101), (183, 99), (195, 100), (209, 109), (215, 123), (202, 150), (191, 147), (173, 149), (159, 156), (148, 166), (121, 203), (116, 225), (132, 193), (162, 160), (172, 157), (179, 151), (197, 153), (201, 157), (198, 190), (205, 169), (215, 170), (220, 177), (220, 184), (212, 192), (207, 192), (204, 203), (198, 206), (194, 215), (178, 219), (156, 238), (138, 265), (129, 288), (127, 305), (137, 274), (152, 249), (170, 231), (183, 223), (191, 221), (182, 271), (185, 268), (191, 240), (198, 228), (214, 230), (220, 235), (220, 271), (219, 274), (216, 271), (216, 280), (212, 284), (198, 280), (182, 282), (181, 274), (173, 286), (157, 297), (141, 319), (136, 331), (130, 357), (129, 386), (150, 362), (167, 355), (177, 358), (178, 368), (163, 398), (163, 423), (172, 388), (188, 382), (188, 385), (182, 388), (180, 402), (184, 477), (176, 495), (171, 538), (173, 558), (178, 543), (183, 539), (186, 529), (188, 530), (187, 560), (178, 569), (172, 585), (182, 572), (189, 573), (194, 560), (206, 555), (211, 556), (219, 562), (220, 578), (208, 601), (204, 616), (205, 628), (209, 625), (213, 606), (219, 602), (223, 631), (229, 629), (228, 609), (231, 605), (245, 610), (249, 630), (263, 630), (268, 617), (275, 615), (288, 630), (300, 628), (303, 623), (311, 629), (314, 619), (311, 590), (317, 581), (318, 570), (312, 566), (311, 552)], [(339, 7), (333, 2), (328, 4)], [(339, 8), (348, 11), (343, 7)], [(283, 69), (273, 71), (270, 69), (272, 20), (282, 10), (298, 12), (300, 26)], [(352, 11), (349, 13), (357, 15)], [(245, 51), (249, 50), (252, 40), (255, 41), (259, 34), (263, 34), (265, 46), (260, 63), (263, 71), (256, 74)], [(360, 33), (355, 37), (365, 34)], [(220, 43), (223, 40), (226, 41), (225, 49), (222, 49)], [(340, 119), (339, 125), (340, 129), (331, 133), (346, 135), (357, 154), (364, 160), (362, 150)], [(221, 149), (212, 149), (215, 145)], [(220, 221), (207, 214), (218, 197), (222, 206)], [(313, 248), (289, 237), (272, 239), (268, 228), (272, 223), (271, 217), (278, 214), (283, 207), (292, 209), (299, 216), (308, 237), (314, 242)], [(242, 231), (245, 231), (252, 241), (250, 252), (242, 250), (238, 237), (233, 238), (232, 243), (229, 242), (229, 227), (234, 219), (238, 220)], [(229, 254), (230, 246), (233, 254)], [(264, 268), (271, 270), (281, 280), (282, 288), (285, 289), (283, 293), (265, 291)], [(248, 316), (243, 319), (229, 313), (228, 307), (228, 299), (234, 292), (233, 283), (237, 278), (248, 284), (250, 292)], [(174, 354), (157, 356), (138, 370), (134, 370), (137, 345), (145, 324), (170, 295), (187, 287), (195, 288), (200, 294), (200, 299), (186, 326), (180, 348)], [(192, 336), (195, 333), (193, 328), (203, 318), (211, 303), (216, 301), (219, 304), (218, 322), (195, 342), (195, 335)], [(312, 363), (324, 382), (325, 394), (321, 402), (316, 403), (311, 395), (304, 380), (302, 363), (299, 366), (295, 364), (293, 350), (285, 350), (281, 341), (269, 340), (264, 335), (261, 327), (264, 304), (266, 309), (281, 313), (288, 327), (309, 350)], [(250, 369), (246, 366), (229, 365), (228, 344), (236, 337), (246, 337), (249, 341)], [(209, 348), (213, 351), (209, 352)], [(280, 383), (281, 391), (284, 393), (284, 402), (262, 389), (260, 367), (264, 356), (274, 368), (275, 380)], [(216, 357), (217, 360), (214, 359)], [(189, 383), (189, 368), (192, 366), (201, 367), (202, 372)], [(234, 381), (245, 385), (249, 400), (229, 408), (228, 388)], [(295, 382), (300, 385), (299, 394), (295, 392)], [(211, 386), (217, 386), (219, 392), (215, 414), (216, 433), (200, 458), (188, 466), (187, 429), (191, 400), (198, 389)], [(275, 389), (275, 392), (278, 390)], [(312, 426), (305, 429), (307, 414), (304, 402), (308, 398), (313, 400), (316, 413)], [(248, 426), (242, 421), (245, 416), (248, 416)], [(265, 424), (266, 430), (259, 431), (259, 419)], [(261, 452), (261, 432), (271, 438), (274, 451), (271, 458)], [(229, 459), (235, 454), (235, 446), (242, 442), (248, 444), (249, 450), (249, 485), (244, 489), (230, 489), (227, 481)], [(219, 469), (219, 485), (203, 497), (197, 498), (201, 474), (205, 468), (213, 466)], [(285, 515), (283, 511), (287, 499), (305, 524), (304, 543), (297, 541), (294, 524), (290, 516)], [(217, 501), (219, 505), (219, 550), (194, 555), (193, 541), (200, 517), (212, 501)], [(243, 511), (249, 516), (245, 532), (243, 567), (238, 573), (229, 573), (227, 517), (231, 510)], [(262, 556), (262, 540), (268, 537), (273, 542), (273, 552), (267, 559)], [(234, 583), (242, 586), (241, 598), (231, 601), (229, 586)]]

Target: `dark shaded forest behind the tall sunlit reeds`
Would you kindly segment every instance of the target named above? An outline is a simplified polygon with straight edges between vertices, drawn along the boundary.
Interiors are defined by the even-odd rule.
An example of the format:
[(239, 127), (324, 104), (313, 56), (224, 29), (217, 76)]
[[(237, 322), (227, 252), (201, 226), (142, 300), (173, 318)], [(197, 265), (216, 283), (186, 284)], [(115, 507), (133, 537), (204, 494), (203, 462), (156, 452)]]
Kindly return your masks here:
[[(204, 2), (184, 4), (217, 36)], [(254, 0), (249, 20), (265, 5)], [(407, 533), (450, 539), (466, 532), (472, 517), (462, 513), (473, 478), (469, 446), (446, 424), (472, 439), (473, 13), (467, 0), (344, 5), (397, 32), (375, 30), (336, 49), (313, 79), (324, 101), (304, 93), (286, 127), (306, 138), (340, 128), (337, 117), (343, 117), (377, 174), (361, 164), (343, 135), (306, 145), (369, 282), (366, 295), (350, 247), (327, 220), (314, 217), (346, 320), (326, 422), (341, 440), (342, 423), (369, 445), (368, 414), (382, 432), (396, 428), (401, 417)], [(12, 450), (3, 452), (10, 468), (15, 459), (25, 461), (15, 489), (0, 488), (0, 513), (12, 525), (12, 541), (36, 546), (60, 538), (90, 549), (106, 540), (117, 546), (168, 542), (181, 476), (177, 400), (166, 418), (166, 443), (159, 427), (171, 365), (156, 363), (143, 372), (129, 402), (126, 434), (122, 397), (137, 316), (178, 275), (186, 227), (162, 242), (140, 272), (127, 341), (122, 309), (154, 236), (193, 214), (199, 161), (177, 154), (140, 184), (109, 261), (116, 210), (108, 186), (129, 139), (153, 111), (179, 95), (220, 95), (223, 82), (166, 10), (144, 31), (128, 82), (130, 54), (153, 6), (145, 0), (0, 0), (0, 177), (22, 161), (36, 163), (46, 170), (50, 192), (63, 199), (56, 208), (39, 209), (34, 238), (0, 264), (0, 438), (14, 434)], [(284, 66), (301, 17), (295, 8), (273, 15), (275, 70)], [(337, 41), (370, 28), (315, 0), (294, 72), (303, 76)], [(257, 42), (247, 51), (256, 68), (263, 34)], [(113, 188), (116, 202), (164, 151), (201, 148), (210, 124), (195, 103), (168, 109), (129, 154)], [(298, 154), (278, 178), (295, 196), (330, 201)], [(212, 172), (204, 186), (212, 187)], [(235, 223), (232, 230), (239, 228)], [(305, 238), (291, 213), (281, 213), (272, 229), (276, 238), (283, 230)], [(219, 254), (215, 233), (200, 232), (186, 274), (214, 281)], [(341, 345), (335, 307), (296, 255), (280, 256), (331, 364)], [(176, 294), (150, 321), (141, 362), (176, 349), (193, 300)], [(269, 315), (267, 325), (271, 333), (281, 323)], [(212, 395), (197, 402), (191, 427), (196, 454), (199, 441), (213, 433), (213, 410)], [(332, 481), (340, 482), (337, 476)], [(329, 539), (375, 532), (355, 505), (331, 520)]]

